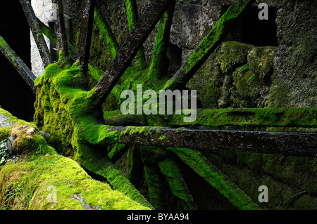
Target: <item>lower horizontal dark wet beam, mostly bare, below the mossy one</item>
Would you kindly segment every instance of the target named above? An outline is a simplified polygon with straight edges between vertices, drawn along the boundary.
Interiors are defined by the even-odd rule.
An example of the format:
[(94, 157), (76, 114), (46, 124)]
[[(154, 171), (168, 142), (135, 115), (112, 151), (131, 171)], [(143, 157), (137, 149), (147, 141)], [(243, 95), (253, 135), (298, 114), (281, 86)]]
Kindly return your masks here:
[(108, 127), (118, 143), (316, 157), (317, 133)]

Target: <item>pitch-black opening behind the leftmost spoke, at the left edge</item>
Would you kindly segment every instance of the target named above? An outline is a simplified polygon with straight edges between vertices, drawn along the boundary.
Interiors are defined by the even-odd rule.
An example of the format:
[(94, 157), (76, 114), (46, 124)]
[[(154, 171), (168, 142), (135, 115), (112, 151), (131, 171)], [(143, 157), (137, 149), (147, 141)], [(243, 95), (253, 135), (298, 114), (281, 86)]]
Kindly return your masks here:
[[(0, 7), (0, 35), (31, 68), (30, 29), (19, 1), (3, 1)], [(35, 94), (20, 74), (0, 53), (0, 105), (15, 117), (33, 120)]]

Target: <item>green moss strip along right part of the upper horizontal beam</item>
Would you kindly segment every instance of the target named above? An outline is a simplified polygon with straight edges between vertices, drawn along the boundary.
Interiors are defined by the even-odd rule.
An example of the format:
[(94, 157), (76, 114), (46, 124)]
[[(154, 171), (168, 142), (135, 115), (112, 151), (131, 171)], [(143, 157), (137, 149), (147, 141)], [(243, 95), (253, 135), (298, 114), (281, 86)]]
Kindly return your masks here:
[[(316, 128), (316, 108), (228, 108), (198, 110), (191, 125), (280, 126)], [(169, 124), (185, 125), (183, 115), (173, 115)]]

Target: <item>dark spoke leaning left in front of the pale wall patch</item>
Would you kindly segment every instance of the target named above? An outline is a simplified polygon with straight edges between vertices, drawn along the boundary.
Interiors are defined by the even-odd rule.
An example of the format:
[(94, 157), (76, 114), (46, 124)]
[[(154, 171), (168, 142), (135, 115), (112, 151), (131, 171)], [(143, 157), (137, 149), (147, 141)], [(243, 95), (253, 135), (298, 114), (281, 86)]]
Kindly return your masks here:
[(47, 47), (46, 41), (43, 37), (37, 17), (35, 16), (35, 12), (33, 11), (30, 1), (20, 0), (20, 4), (25, 13), (25, 17), (27, 18), (27, 22), (32, 32), (32, 36), (37, 45), (37, 49), (39, 50), (39, 55), (42, 58), (43, 65), (44, 67), (46, 67), (47, 65), (53, 63), (53, 60), (51, 58), (51, 53), (49, 53), (49, 48)]

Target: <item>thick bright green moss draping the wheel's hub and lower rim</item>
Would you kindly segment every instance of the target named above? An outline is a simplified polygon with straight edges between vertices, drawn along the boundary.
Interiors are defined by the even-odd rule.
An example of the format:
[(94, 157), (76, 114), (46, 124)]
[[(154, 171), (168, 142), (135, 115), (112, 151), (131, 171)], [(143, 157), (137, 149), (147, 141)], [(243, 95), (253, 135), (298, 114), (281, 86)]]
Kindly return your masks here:
[(99, 110), (94, 109), (92, 91), (85, 91), (87, 82), (78, 62), (72, 66), (58, 62), (46, 67), (36, 81), (35, 122), (51, 133), (52, 144), (64, 149), (64, 154), (72, 155), (89, 171), (104, 176), (114, 189), (149, 206), (123, 173), (114, 168), (107, 154), (98, 152), (99, 145), (116, 143), (119, 136), (118, 131), (111, 131), (96, 119)]

